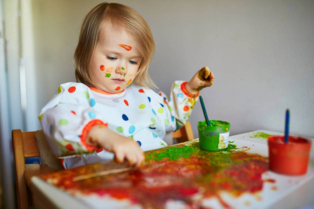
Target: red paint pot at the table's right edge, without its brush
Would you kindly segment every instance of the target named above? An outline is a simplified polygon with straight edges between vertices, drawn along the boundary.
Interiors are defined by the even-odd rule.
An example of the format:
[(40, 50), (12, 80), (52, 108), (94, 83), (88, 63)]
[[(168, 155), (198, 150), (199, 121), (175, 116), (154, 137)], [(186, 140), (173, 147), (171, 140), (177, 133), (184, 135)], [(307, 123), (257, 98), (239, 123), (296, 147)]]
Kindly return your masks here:
[(289, 137), (288, 143), (283, 136), (268, 137), (269, 169), (276, 173), (301, 175), (308, 170), (311, 139)]

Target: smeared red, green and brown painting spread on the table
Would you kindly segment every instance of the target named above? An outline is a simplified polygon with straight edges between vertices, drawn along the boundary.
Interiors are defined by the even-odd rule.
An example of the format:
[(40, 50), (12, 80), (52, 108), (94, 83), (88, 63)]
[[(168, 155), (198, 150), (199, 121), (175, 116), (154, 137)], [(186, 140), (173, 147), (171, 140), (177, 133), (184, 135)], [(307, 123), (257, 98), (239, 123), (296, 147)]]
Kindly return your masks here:
[(97, 201), (101, 204), (109, 198), (140, 208), (169, 208), (171, 202), (188, 208), (207, 208), (205, 200), (211, 198), (224, 208), (232, 208), (223, 200), (223, 193), (234, 198), (256, 194), (266, 181), (274, 182), (262, 179), (262, 173), (268, 169), (268, 157), (237, 149), (234, 144), (228, 150), (208, 152), (200, 150), (198, 141), (149, 151), (139, 169), (73, 180), (119, 168), (121, 164), (98, 163), (41, 178), (83, 201), (92, 197), (95, 206)]

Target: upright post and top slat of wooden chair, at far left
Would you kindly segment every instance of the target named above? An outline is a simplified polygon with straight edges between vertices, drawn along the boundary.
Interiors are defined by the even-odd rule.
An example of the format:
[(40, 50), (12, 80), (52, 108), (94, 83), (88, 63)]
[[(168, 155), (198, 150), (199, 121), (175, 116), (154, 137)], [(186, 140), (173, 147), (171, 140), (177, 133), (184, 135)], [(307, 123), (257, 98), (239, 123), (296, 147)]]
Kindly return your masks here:
[(12, 131), (13, 157), (15, 168), (15, 184), (17, 189), (18, 208), (29, 208), (27, 185), (24, 179), (25, 158), (39, 157), (36, 132)]

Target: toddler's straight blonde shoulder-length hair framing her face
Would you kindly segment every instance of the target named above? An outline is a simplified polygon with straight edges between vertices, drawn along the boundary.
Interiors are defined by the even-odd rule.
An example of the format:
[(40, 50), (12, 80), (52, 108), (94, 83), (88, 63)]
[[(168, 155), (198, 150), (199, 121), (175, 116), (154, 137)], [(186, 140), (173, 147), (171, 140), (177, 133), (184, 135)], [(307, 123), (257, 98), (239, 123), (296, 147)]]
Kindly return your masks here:
[(106, 22), (116, 29), (125, 29), (137, 44), (142, 54), (137, 76), (133, 84), (147, 88), (157, 88), (148, 74), (149, 64), (155, 52), (151, 29), (144, 18), (133, 8), (119, 3), (100, 3), (92, 8), (84, 18), (80, 38), (74, 54), (75, 77), (87, 86), (95, 86), (89, 72), (91, 58), (98, 42), (98, 35)]

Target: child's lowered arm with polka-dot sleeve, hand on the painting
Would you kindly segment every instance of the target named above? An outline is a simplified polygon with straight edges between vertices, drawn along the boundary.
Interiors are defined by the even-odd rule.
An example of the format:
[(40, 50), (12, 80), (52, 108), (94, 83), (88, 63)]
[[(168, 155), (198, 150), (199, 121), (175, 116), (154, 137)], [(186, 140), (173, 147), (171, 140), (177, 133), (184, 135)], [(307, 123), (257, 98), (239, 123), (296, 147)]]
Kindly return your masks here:
[[(61, 84), (39, 116), (54, 155), (75, 157), (95, 153), (101, 147), (117, 155), (119, 162), (128, 160), (130, 164), (140, 164), (143, 160), (140, 146), (110, 130), (93, 108), (96, 104), (93, 93), (84, 84)], [(96, 146), (88, 139), (94, 139)]]

